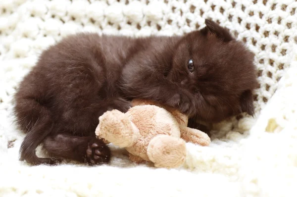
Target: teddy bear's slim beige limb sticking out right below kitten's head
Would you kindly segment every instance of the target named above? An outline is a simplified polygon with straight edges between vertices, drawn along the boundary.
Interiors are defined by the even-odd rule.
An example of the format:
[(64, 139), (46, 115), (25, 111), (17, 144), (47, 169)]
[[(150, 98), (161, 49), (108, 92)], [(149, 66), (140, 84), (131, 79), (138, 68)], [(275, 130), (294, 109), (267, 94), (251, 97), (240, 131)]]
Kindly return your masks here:
[(180, 131), (181, 138), (186, 142), (191, 142), (200, 146), (208, 146), (210, 143), (210, 138), (208, 135), (202, 131), (199, 131), (198, 129), (180, 126)]

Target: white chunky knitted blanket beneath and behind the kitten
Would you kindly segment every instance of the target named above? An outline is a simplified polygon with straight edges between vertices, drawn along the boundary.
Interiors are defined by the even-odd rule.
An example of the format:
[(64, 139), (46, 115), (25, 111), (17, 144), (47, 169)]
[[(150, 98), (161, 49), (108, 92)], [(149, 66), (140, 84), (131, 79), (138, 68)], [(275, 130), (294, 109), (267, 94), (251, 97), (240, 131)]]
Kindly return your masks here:
[[(296, 8), (295, 0), (0, 0), (0, 196), (296, 197)], [(111, 164), (96, 167), (18, 160), (24, 135), (12, 122), (12, 95), (42, 49), (79, 31), (181, 35), (205, 18), (256, 54), (254, 119), (215, 125), (210, 147), (187, 144), (180, 169), (133, 164), (115, 147)]]

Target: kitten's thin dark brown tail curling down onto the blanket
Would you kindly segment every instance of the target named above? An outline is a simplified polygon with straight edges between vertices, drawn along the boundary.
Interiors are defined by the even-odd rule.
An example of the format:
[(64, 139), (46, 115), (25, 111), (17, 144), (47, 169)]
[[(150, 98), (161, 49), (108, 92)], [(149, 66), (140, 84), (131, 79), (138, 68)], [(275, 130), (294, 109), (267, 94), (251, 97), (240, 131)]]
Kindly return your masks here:
[(20, 147), (20, 160), (34, 165), (54, 163), (50, 158), (39, 158), (36, 155), (36, 148), (52, 130), (49, 109), (35, 99), (18, 99), (15, 114), (20, 129), (27, 133)]

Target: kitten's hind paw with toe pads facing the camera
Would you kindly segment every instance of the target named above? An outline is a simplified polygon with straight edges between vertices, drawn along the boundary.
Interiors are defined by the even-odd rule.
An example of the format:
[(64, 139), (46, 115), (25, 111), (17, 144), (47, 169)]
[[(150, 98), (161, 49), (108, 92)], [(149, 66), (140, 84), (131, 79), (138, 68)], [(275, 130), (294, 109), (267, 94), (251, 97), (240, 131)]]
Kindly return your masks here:
[(99, 139), (92, 139), (86, 150), (86, 162), (89, 165), (108, 163), (110, 160), (109, 148)]

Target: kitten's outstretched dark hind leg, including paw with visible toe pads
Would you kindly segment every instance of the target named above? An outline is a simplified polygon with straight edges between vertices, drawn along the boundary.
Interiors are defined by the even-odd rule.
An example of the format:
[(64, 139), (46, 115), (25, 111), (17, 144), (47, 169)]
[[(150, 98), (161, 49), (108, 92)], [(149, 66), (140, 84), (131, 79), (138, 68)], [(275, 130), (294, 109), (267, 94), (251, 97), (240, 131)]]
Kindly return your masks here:
[(78, 137), (70, 134), (55, 134), (44, 141), (49, 155), (59, 159), (72, 159), (90, 165), (108, 163), (109, 148), (93, 136)]

